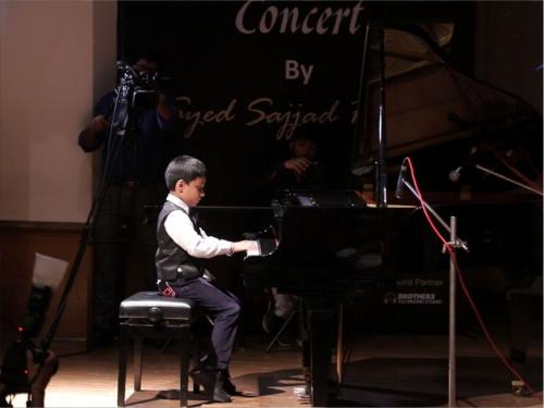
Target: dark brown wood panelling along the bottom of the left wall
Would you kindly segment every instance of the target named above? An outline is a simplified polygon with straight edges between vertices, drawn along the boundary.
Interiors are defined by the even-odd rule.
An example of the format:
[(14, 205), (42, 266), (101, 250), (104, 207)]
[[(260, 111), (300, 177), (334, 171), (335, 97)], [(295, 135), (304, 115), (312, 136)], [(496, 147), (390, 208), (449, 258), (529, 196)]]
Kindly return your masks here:
[[(35, 252), (72, 261), (79, 246), (79, 235), (81, 227), (69, 223), (0, 223), (0, 247), (3, 252), (0, 260), (0, 349), (2, 343), (7, 343), (14, 334), (15, 326), (23, 321), (23, 314), (27, 311)], [(92, 276), (90, 258), (91, 251), (87, 250), (70, 290), (66, 308), (61, 314), (55, 338), (88, 337)], [(66, 277), (71, 269), (72, 262)], [(61, 284), (54, 293), (44, 330), (50, 325), (63, 287)]]

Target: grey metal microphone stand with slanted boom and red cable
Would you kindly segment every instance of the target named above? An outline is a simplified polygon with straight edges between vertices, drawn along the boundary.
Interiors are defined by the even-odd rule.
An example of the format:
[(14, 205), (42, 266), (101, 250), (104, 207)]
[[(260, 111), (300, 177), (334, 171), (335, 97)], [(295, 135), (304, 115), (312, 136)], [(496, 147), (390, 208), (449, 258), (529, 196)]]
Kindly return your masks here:
[[(456, 265), (454, 257), (456, 249), (462, 248), (467, 252), (469, 248), (467, 243), (460, 239), (457, 235), (457, 219), (449, 218), (449, 225), (429, 206), (418, 191), (408, 183), (404, 177), (403, 184), (413, 194), (418, 200), (429, 210), (430, 213), (441, 223), (442, 226), (449, 232), (449, 242), (447, 243), (452, 248), (452, 256), (449, 257), (449, 321), (448, 321), (448, 407), (455, 407), (456, 398)], [(446, 251), (444, 247), (443, 252)]]

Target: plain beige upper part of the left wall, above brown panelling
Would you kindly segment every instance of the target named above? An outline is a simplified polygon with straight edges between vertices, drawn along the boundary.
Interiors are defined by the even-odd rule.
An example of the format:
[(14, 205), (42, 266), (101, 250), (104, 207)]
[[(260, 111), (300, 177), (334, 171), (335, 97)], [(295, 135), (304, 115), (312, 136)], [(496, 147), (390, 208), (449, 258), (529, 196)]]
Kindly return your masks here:
[(91, 156), (76, 137), (113, 85), (114, 2), (0, 2), (0, 220), (82, 222)]

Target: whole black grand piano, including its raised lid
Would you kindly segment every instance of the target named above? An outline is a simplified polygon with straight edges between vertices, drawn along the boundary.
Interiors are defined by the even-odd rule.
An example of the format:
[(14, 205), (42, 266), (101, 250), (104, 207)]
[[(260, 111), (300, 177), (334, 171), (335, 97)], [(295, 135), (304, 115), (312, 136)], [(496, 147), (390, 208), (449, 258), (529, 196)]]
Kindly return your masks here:
[[(391, 269), (395, 262), (387, 265), (387, 259), (395, 257), (391, 251), (395, 248), (390, 245), (395, 222), (417, 212), (413, 206), (418, 202), (413, 197), (401, 200), (386, 188), (386, 184), (392, 185), (396, 178), (403, 156), (415, 156), (425, 188), (437, 190), (430, 195), (431, 203), (442, 206), (449, 214), (461, 205), (462, 213), (467, 214), (465, 221), (469, 224), (473, 214), (467, 207), (471, 203), (478, 203), (479, 211), (482, 203), (486, 206), (483, 214), (479, 212), (482, 217), (490, 217), (490, 213), (502, 217), (500, 223), (505, 227), (497, 234), (503, 235), (516, 225), (523, 209), (516, 207), (515, 211), (504, 211), (502, 205), (515, 202), (523, 206), (528, 202), (531, 210), (524, 215), (532, 214), (529, 217), (535, 217), (536, 221), (539, 208), (542, 212), (542, 196), (519, 194), (516, 186), (505, 184), (503, 180), (478, 172), (462, 174), (460, 184), (453, 184), (457, 182), (453, 177), (447, 180), (454, 164), (468, 164), (461, 161), (472, 156), (473, 146), (478, 146), (478, 160), (507, 161), (511, 168), (523, 160), (526, 149), (532, 153), (542, 150), (533, 150), (542, 146), (542, 139), (537, 132), (539, 115), (528, 103), (460, 74), (441, 58), (441, 47), (448, 44), (452, 35), (453, 26), (436, 24), (424, 28), (385, 28), (374, 42), (372, 35), (369, 37), (369, 58), (374, 66), (362, 75), (367, 86), (361, 92), (361, 100), (366, 103), (361, 106), (367, 107), (367, 111), (359, 112), (353, 174), (360, 183), (355, 183), (357, 189), (370, 189), (375, 206), (368, 206), (355, 191), (285, 191), (273, 206), (277, 235), (272, 242), (275, 239), (277, 246), (271, 245), (270, 238), (264, 239), (263, 247), (268, 249), (244, 261), (243, 277), (247, 286), (275, 286), (280, 292), (297, 294), (304, 300), (308, 327), (304, 366), (309, 371), (307, 390), (313, 406), (330, 404), (333, 333), (338, 305), (375, 285), (384, 274), (395, 273)], [(380, 60), (386, 64), (383, 71), (375, 63)], [(384, 88), (388, 92), (391, 114), (385, 114)], [(428, 91), (433, 88), (440, 91)], [(380, 134), (384, 128), (388, 129), (387, 138)], [(517, 137), (512, 138), (510, 132)], [(531, 162), (527, 154), (524, 159)], [(531, 168), (536, 171), (531, 173), (530, 170), (531, 175), (524, 181), (539, 176), (542, 157), (536, 153), (533, 159), (536, 164), (531, 163)], [(472, 180), (468, 183), (472, 184), (467, 190), (469, 176)], [(542, 191), (537, 183), (532, 185), (536, 193), (539, 187)], [(510, 190), (515, 190), (514, 194)], [(530, 226), (531, 220), (524, 217), (522, 223), (522, 230), (526, 233), (529, 230), (529, 236), (537, 237), (537, 232)], [(418, 227), (424, 228), (425, 225), (420, 222)], [(465, 234), (469, 233), (474, 235), (474, 231), (465, 231)], [(475, 235), (485, 233), (478, 231)], [(519, 246), (507, 248), (517, 254), (510, 263), (526, 257), (527, 249)], [(474, 263), (485, 261), (479, 258)], [(423, 267), (425, 262), (430, 263), (423, 260)], [(537, 267), (530, 273), (534, 269)]]

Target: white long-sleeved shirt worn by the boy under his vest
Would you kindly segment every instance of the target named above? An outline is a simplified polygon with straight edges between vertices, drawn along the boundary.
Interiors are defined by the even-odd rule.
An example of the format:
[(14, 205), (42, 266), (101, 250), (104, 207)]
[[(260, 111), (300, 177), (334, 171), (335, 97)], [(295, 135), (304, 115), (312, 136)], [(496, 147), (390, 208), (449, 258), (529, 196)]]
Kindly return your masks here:
[(188, 215), (189, 207), (182, 199), (169, 194), (166, 200), (186, 211), (175, 210), (168, 214), (164, 221), (164, 230), (174, 243), (187, 251), (188, 255), (195, 258), (213, 258), (218, 255), (231, 254), (232, 242), (208, 236), (202, 228), (199, 228), (200, 234), (195, 231), (193, 221)]

